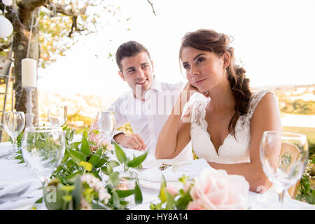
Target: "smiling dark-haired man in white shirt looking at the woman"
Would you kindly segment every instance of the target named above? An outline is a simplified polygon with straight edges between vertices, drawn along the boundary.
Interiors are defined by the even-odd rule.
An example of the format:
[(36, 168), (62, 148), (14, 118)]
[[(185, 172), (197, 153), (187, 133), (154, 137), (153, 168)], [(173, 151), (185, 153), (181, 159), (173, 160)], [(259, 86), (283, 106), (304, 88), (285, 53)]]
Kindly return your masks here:
[[(148, 150), (155, 155), (158, 135), (169, 117), (176, 98), (183, 89), (183, 83), (160, 82), (153, 74), (150, 53), (141, 43), (128, 41), (116, 51), (118, 74), (130, 86), (115, 106), (116, 127), (130, 123), (135, 134), (116, 132), (113, 137), (118, 144), (137, 151)], [(193, 160), (189, 143), (175, 160)]]

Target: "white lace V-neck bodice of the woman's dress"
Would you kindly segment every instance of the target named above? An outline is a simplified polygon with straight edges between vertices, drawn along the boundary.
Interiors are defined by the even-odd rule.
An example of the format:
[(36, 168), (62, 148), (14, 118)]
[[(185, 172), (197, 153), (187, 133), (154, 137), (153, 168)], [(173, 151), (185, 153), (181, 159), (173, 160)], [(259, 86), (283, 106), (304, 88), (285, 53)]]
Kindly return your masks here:
[(205, 158), (208, 162), (225, 164), (250, 162), (248, 146), (251, 139), (251, 117), (260, 99), (262, 99), (267, 92), (269, 91), (261, 90), (252, 93), (248, 112), (243, 116), (239, 116), (237, 120), (235, 126), (236, 139), (229, 134), (228, 137), (224, 139), (223, 144), (218, 148), (218, 153), (207, 131), (208, 123), (204, 119), (206, 116), (206, 107), (211, 99), (204, 97), (204, 95), (200, 93), (193, 94), (193, 96), (190, 97), (188, 105), (190, 105), (191, 112), (190, 137), (196, 155), (199, 158)]

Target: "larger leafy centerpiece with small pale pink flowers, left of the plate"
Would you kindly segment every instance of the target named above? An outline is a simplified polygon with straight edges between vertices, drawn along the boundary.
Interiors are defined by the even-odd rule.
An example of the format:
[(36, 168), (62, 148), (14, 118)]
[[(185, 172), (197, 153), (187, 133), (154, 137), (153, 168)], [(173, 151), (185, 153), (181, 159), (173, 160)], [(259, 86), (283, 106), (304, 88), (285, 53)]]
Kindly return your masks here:
[[(117, 144), (104, 141), (102, 134), (90, 129), (75, 141), (76, 130), (63, 127), (66, 149), (61, 164), (43, 189), (43, 200), (48, 209), (127, 209), (130, 202), (126, 197), (134, 195), (135, 204), (141, 204), (142, 194), (139, 181), (134, 189), (119, 190), (120, 172), (141, 167), (147, 153), (127, 158)], [(118, 161), (113, 160), (116, 154)], [(22, 160), (22, 155), (17, 159)], [(24, 162), (22, 160), (21, 162)]]

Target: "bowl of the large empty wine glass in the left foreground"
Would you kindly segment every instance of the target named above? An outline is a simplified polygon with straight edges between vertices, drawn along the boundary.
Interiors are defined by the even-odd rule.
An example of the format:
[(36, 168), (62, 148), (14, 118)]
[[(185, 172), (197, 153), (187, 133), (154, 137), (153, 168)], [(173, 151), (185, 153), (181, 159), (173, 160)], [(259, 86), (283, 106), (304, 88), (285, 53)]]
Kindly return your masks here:
[(22, 140), (22, 155), (42, 183), (57, 169), (65, 151), (62, 127), (26, 127)]

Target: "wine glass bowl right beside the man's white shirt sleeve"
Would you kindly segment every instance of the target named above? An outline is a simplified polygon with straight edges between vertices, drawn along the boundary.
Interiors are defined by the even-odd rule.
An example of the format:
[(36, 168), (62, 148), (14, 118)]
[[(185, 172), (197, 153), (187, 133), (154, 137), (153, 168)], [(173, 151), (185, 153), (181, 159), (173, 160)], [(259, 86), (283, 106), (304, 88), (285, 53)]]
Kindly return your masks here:
[(100, 131), (105, 136), (106, 140), (111, 139), (116, 130), (114, 106), (102, 107), (100, 122)]

